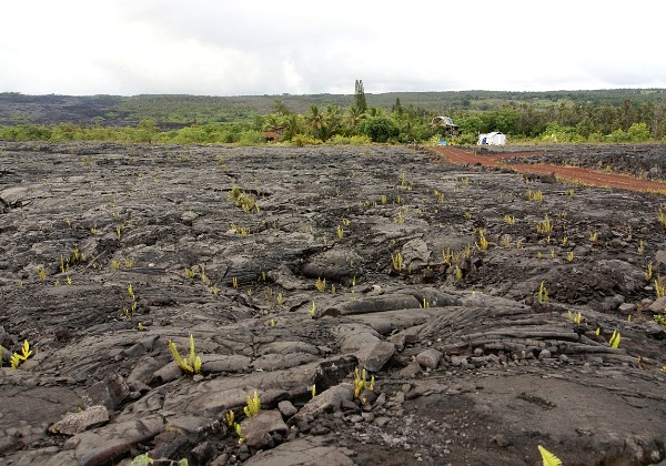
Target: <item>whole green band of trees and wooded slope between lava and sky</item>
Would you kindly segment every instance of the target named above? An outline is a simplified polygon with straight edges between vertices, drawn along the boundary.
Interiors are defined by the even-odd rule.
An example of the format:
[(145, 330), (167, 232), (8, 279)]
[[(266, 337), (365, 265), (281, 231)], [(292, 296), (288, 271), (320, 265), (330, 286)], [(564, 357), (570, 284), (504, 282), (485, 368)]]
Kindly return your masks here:
[[(8, 108), (38, 109), (39, 98), (0, 94), (0, 116), (4, 115), (0, 121), (7, 121)], [(259, 144), (266, 141), (266, 132), (279, 129), (281, 140), (297, 144), (346, 143), (352, 138), (356, 142), (426, 142), (444, 136), (464, 144), (491, 131), (503, 132), (514, 142), (666, 141), (664, 90), (422, 92), (367, 94), (363, 101), (359, 95), (332, 94), (71, 98), (75, 105), (67, 97), (41, 98), (50, 98), (62, 115), (78, 111), (88, 120), (33, 124), (29, 118), (13, 118), (12, 124), (0, 125), (0, 139)], [(393, 101), (387, 104), (390, 98)], [(91, 99), (88, 107), (85, 99)], [(102, 111), (104, 116), (91, 116)], [(450, 136), (443, 128), (433, 126), (436, 115), (452, 116), (460, 134)], [(122, 121), (131, 123), (109, 124)]]

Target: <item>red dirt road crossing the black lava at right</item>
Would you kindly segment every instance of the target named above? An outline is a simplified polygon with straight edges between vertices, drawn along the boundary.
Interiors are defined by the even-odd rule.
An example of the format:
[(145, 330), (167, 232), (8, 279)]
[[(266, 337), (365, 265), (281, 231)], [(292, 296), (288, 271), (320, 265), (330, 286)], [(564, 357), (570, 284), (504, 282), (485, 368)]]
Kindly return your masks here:
[(507, 164), (502, 162), (503, 159), (534, 155), (536, 152), (519, 152), (497, 155), (476, 155), (470, 152), (465, 152), (461, 149), (450, 146), (436, 146), (434, 148), (434, 150), (438, 154), (445, 156), (451, 163), (456, 164), (480, 163), (486, 166), (513, 170), (518, 173), (555, 173), (555, 176), (557, 176), (561, 180), (581, 182), (583, 184), (588, 184), (592, 186), (616, 188), (627, 191), (652, 191), (666, 193), (666, 183), (662, 183), (658, 181), (638, 180), (628, 175), (596, 172), (594, 170), (581, 169), (577, 166), (562, 166), (546, 163), (522, 165)]

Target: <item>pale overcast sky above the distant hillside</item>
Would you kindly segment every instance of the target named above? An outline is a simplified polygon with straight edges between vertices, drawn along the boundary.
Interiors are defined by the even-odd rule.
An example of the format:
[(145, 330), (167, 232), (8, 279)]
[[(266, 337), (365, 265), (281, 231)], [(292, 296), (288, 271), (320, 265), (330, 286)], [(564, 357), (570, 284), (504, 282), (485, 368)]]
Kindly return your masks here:
[(666, 88), (664, 0), (4, 0), (0, 92)]

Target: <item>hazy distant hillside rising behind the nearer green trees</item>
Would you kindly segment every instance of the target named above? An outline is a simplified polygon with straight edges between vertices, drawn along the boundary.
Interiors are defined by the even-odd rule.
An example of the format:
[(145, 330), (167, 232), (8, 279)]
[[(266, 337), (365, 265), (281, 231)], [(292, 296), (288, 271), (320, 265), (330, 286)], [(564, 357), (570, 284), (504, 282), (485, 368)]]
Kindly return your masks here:
[[(610, 89), (595, 91), (456, 91), (456, 92), (391, 92), (366, 94), (367, 104), (391, 110), (396, 99), (402, 105), (423, 109), (432, 114), (454, 111), (483, 112), (504, 105), (529, 104), (536, 109), (579, 103), (591, 107), (664, 102), (666, 89)], [(127, 126), (152, 118), (162, 128), (180, 128), (206, 122), (241, 122), (270, 113), (280, 100), (292, 111), (303, 113), (312, 104), (351, 107), (353, 94), (313, 95), (23, 95), (0, 93), (0, 125), (56, 124), (71, 122)]]

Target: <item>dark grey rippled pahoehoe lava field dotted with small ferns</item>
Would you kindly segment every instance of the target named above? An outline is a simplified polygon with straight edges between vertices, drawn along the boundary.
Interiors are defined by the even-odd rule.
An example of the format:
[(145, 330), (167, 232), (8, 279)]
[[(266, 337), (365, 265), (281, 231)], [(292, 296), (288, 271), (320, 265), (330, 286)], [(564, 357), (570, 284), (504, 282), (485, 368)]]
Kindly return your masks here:
[[(633, 150), (604, 149), (655, 172)], [(665, 199), (553, 181), (384, 145), (0, 143), (2, 463), (663, 464)]]

